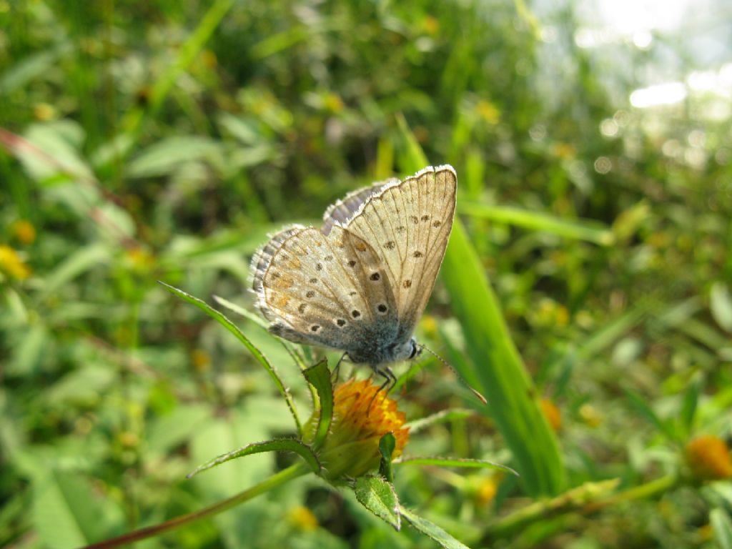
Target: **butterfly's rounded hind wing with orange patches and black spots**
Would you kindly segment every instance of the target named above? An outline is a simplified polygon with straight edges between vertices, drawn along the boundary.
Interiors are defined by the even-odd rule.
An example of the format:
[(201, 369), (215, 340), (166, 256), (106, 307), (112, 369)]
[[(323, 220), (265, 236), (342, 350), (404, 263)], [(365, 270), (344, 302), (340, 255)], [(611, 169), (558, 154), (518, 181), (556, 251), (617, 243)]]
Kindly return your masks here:
[(270, 331), (295, 343), (362, 351), (396, 315), (383, 261), (340, 226), (327, 236), (299, 225), (280, 231), (255, 255), (252, 271)]

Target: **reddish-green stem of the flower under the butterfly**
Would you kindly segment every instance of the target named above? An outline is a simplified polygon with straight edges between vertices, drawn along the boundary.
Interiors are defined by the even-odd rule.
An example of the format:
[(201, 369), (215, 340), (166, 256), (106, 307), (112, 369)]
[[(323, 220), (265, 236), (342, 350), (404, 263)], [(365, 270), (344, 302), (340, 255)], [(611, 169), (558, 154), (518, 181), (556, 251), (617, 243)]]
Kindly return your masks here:
[(103, 542), (92, 543), (91, 545), (87, 545), (86, 548), (83, 549), (119, 547), (121, 545), (127, 545), (128, 543), (137, 542), (141, 539), (146, 539), (163, 534), (163, 532), (176, 529), (179, 526), (192, 523), (195, 520), (218, 515), (220, 512), (231, 509), (231, 507), (236, 507), (236, 505), (255, 498), (256, 496), (259, 496), (260, 494), (265, 493), (269, 490), (272, 490), (272, 488), (284, 484), (289, 480), (296, 479), (297, 477), (302, 477), (303, 474), (308, 472), (310, 472), (309, 468), (305, 467), (302, 463), (296, 463), (294, 466), (283, 469), (283, 471), (280, 471), (277, 474), (273, 474), (272, 477), (269, 477), (268, 479), (260, 482), (258, 485), (254, 485), (252, 488), (247, 488), (247, 490), (236, 494), (236, 496), (231, 496), (231, 498), (219, 501), (217, 504), (213, 504), (209, 507), (201, 509), (200, 511), (195, 511), (188, 513), (187, 515), (181, 515), (176, 518), (171, 518), (171, 520), (166, 520), (164, 523), (156, 524), (155, 526), (147, 526), (146, 528), (131, 531), (127, 534), (122, 534), (122, 536), (106, 539)]

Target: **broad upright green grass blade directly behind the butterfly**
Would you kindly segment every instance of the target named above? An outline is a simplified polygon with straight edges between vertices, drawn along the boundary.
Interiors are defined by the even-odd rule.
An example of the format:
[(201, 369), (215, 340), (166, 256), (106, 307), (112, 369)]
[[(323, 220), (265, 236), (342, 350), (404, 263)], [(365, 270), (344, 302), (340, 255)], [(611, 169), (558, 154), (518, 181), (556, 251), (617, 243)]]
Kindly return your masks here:
[[(403, 169), (423, 168), (427, 160), (417, 138), (403, 116), (397, 117), (397, 124), (407, 149)], [(539, 409), (536, 391), (509, 335), (498, 299), (459, 219), (452, 225), (441, 276), (463, 326), (471, 358), (471, 370), (460, 373), (468, 380), (480, 381), (493, 418), (518, 462), (526, 490), (532, 496), (559, 493), (564, 486), (559, 444)]]

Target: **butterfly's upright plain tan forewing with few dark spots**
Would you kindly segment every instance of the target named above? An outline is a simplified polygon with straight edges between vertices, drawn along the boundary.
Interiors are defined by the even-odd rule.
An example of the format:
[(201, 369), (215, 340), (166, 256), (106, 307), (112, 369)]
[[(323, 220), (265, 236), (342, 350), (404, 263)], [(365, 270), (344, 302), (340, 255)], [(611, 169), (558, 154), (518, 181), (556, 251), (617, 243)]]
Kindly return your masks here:
[(384, 184), (343, 222), (378, 250), (403, 336), (411, 335), (435, 285), (455, 216), (457, 183), (452, 166), (427, 167)]

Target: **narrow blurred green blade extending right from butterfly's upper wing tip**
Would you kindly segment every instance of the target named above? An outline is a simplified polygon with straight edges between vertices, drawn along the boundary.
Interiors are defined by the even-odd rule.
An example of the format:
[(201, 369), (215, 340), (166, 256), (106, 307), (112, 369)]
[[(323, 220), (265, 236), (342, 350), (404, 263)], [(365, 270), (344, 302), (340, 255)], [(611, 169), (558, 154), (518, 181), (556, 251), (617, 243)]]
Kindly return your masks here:
[(532, 231), (556, 234), (564, 238), (586, 240), (601, 246), (610, 246), (614, 239), (613, 232), (602, 223), (591, 220), (569, 221), (550, 214), (508, 206), (488, 206), (488, 204), (462, 201), (458, 203), (458, 213), (528, 228)]

